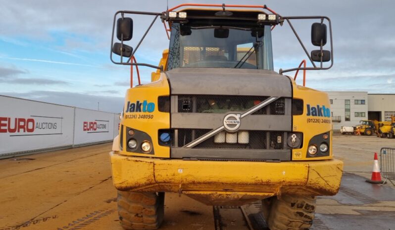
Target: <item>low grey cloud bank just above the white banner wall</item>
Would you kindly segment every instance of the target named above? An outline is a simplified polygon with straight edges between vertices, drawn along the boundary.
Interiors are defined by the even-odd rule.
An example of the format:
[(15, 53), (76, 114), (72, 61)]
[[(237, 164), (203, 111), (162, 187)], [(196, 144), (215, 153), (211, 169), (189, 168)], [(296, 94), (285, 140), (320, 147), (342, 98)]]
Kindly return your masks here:
[(56, 91), (30, 91), (26, 93), (0, 92), (0, 95), (26, 98), (54, 104), (75, 106), (78, 108), (99, 110), (111, 113), (122, 111), (123, 97), (98, 96), (84, 93), (56, 92)]

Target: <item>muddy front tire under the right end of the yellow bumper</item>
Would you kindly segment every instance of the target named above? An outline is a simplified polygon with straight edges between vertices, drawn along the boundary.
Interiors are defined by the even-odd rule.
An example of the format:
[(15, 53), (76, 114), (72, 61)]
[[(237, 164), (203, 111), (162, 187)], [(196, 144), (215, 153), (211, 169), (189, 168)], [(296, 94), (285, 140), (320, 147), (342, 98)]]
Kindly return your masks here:
[(307, 230), (313, 223), (315, 202), (314, 196), (272, 197), (270, 201), (262, 202), (263, 216), (270, 230)]

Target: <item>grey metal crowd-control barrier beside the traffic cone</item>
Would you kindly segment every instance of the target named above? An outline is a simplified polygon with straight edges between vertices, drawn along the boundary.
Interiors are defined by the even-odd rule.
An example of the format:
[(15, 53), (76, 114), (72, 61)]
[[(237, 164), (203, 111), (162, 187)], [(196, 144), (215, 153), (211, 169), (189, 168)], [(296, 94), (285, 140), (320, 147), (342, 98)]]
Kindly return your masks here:
[(394, 185), (394, 183), (392, 182), (393, 180), (395, 180), (395, 149), (394, 148), (387, 148), (387, 147), (381, 148), (380, 172), (381, 175), (386, 179), (384, 183), (386, 183), (387, 180), (389, 180)]

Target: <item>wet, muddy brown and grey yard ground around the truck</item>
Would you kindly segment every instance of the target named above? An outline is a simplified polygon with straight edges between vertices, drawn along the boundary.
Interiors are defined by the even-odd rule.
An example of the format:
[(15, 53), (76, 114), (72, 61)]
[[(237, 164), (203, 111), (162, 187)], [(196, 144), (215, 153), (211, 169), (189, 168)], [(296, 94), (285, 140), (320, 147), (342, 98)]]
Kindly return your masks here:
[[(389, 142), (393, 141), (393, 143)], [(311, 230), (395, 230), (395, 189), (365, 182), (373, 152), (394, 139), (335, 136), (342, 187), (318, 197)], [(111, 144), (0, 160), (0, 230), (121, 230), (111, 181)], [(164, 230), (265, 229), (259, 202), (206, 206), (166, 193)]]

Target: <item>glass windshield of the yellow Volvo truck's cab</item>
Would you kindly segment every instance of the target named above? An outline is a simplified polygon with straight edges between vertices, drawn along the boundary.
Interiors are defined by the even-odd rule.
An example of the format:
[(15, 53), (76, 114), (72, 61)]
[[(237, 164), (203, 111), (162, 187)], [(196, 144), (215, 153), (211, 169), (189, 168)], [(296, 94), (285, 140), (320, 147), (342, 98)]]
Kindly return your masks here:
[(174, 23), (167, 69), (179, 67), (273, 70), (270, 26), (247, 29)]

